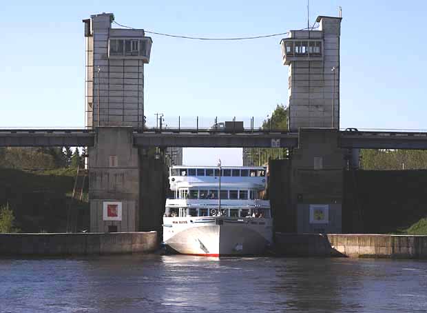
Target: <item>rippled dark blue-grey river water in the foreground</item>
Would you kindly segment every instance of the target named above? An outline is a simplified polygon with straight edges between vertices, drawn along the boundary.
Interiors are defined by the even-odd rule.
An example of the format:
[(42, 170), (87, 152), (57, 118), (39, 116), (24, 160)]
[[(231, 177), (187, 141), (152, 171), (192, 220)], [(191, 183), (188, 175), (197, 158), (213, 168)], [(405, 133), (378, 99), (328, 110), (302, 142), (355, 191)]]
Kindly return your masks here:
[(427, 261), (0, 260), (0, 312), (427, 312)]

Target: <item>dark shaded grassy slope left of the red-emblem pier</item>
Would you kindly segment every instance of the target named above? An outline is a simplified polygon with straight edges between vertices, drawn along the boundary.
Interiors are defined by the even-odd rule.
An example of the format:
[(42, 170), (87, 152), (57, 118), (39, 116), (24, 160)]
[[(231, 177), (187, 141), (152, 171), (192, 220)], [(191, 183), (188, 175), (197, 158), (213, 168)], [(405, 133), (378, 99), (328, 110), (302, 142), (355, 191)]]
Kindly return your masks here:
[[(10, 204), (22, 232), (64, 232), (75, 175), (76, 169), (70, 168), (0, 168), (0, 204)], [(73, 208), (87, 209), (87, 203), (74, 203)]]

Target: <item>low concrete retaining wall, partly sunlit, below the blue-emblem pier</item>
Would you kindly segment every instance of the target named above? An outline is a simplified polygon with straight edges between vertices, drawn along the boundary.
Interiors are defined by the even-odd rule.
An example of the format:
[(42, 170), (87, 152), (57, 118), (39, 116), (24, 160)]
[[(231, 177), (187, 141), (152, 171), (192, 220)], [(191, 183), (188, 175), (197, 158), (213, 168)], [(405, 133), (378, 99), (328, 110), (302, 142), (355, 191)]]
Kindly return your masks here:
[(287, 256), (427, 259), (427, 236), (276, 233), (275, 252)]

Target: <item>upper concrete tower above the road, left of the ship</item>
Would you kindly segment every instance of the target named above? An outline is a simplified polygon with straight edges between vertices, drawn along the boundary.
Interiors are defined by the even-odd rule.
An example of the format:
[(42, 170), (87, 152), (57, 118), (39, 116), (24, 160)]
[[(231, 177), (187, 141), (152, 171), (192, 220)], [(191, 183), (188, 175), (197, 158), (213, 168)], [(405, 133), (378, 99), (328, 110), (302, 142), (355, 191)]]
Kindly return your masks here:
[(112, 28), (114, 15), (92, 15), (85, 23), (85, 124), (131, 126), (144, 124), (144, 64), (152, 39), (144, 30)]

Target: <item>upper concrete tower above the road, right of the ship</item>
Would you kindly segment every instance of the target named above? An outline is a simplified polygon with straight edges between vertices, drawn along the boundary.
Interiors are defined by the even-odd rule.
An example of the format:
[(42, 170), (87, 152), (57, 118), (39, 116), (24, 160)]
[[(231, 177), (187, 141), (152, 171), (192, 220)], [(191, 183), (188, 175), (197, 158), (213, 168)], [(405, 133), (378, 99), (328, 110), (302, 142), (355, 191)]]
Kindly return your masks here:
[(340, 128), (341, 17), (317, 17), (318, 30), (291, 30), (282, 39), (289, 65), (289, 130)]

